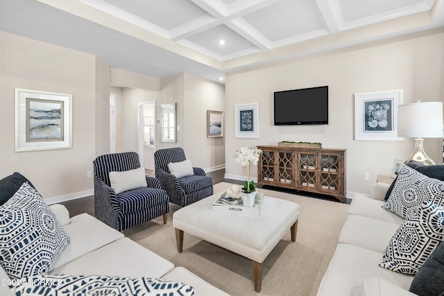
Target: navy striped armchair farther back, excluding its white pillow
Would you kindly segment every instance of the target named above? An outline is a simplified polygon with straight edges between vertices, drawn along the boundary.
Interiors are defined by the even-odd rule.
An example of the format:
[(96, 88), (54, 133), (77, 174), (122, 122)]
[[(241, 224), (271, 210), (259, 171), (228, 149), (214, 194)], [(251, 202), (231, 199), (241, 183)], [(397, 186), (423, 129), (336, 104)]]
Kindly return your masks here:
[(168, 168), (170, 162), (185, 161), (182, 148), (160, 149), (154, 153), (155, 177), (169, 195), (169, 201), (185, 207), (213, 194), (213, 181), (202, 168), (193, 167), (194, 175), (177, 178)]

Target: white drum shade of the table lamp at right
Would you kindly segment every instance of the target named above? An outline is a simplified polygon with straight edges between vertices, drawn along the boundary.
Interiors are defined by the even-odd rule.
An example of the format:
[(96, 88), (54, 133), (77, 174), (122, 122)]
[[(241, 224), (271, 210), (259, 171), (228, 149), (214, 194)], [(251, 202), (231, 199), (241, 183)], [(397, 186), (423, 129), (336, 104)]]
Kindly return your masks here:
[(398, 106), (398, 137), (442, 138), (443, 103), (418, 102)]

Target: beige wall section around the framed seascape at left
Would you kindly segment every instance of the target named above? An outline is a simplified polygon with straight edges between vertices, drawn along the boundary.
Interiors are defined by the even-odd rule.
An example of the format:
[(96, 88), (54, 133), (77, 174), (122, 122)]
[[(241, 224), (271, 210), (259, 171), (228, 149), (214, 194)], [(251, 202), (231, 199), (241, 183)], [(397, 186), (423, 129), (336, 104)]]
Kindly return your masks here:
[[(92, 55), (0, 32), (0, 177), (22, 173), (44, 198), (92, 192), (96, 64)], [(71, 149), (15, 152), (15, 88), (72, 94)]]

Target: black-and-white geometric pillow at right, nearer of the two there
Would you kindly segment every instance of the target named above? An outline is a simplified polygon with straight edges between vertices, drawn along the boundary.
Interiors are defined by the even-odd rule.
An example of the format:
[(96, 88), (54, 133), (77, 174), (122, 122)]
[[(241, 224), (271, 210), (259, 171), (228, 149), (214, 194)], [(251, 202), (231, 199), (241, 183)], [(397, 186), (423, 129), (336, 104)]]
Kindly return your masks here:
[(379, 266), (415, 275), (441, 241), (444, 241), (444, 209), (424, 202), (418, 216), (408, 217), (395, 232)]

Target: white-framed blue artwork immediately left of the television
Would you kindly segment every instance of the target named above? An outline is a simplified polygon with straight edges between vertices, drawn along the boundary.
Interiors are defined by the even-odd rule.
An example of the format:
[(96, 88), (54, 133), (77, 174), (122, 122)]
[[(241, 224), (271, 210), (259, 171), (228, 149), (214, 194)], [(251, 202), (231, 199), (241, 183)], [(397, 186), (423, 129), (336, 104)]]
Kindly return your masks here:
[(234, 105), (234, 137), (259, 138), (259, 103)]

